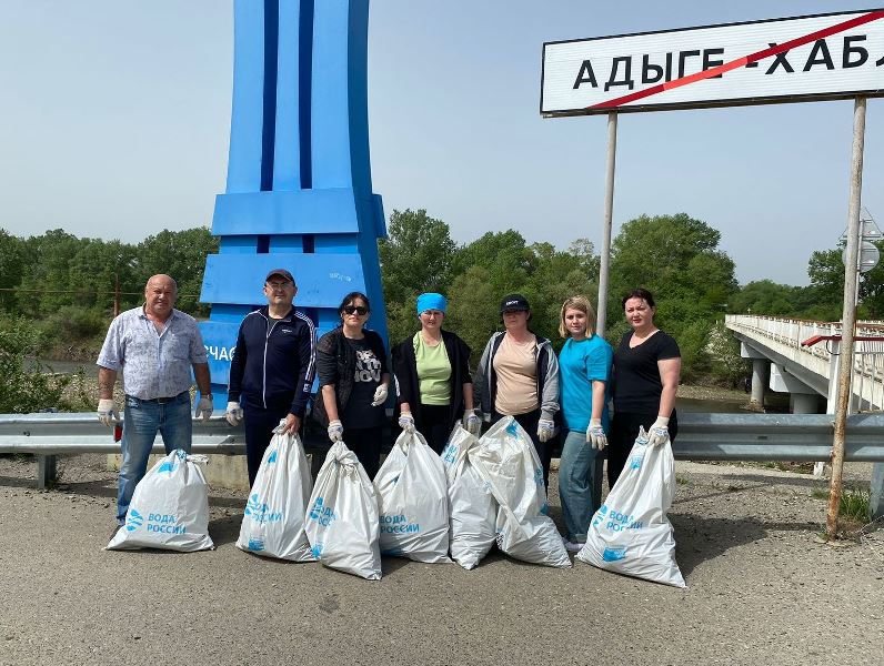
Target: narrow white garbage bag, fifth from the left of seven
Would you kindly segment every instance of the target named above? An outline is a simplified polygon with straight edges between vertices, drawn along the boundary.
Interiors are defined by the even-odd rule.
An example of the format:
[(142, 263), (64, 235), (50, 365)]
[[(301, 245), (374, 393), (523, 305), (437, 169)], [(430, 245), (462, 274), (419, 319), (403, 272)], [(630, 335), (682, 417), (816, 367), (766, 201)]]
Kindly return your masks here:
[(475, 567), (496, 538), (498, 503), (470, 462), (470, 453), (478, 448), (479, 440), (458, 423), (442, 452), (449, 483), (451, 556), (465, 569)]

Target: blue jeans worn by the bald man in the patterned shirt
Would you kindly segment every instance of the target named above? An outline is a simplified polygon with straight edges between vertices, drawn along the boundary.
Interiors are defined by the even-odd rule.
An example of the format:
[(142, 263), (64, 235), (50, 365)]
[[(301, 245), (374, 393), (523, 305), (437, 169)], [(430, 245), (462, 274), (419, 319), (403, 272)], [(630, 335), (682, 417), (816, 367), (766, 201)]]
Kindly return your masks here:
[(123, 438), (120, 442), (123, 462), (120, 465), (120, 487), (117, 492), (117, 522), (125, 523), (125, 513), (138, 482), (148, 471), (148, 456), (157, 432), (162, 434), (165, 453), (175, 448), (190, 451), (193, 421), (190, 414), (190, 393), (183, 392), (159, 404), (125, 396)]

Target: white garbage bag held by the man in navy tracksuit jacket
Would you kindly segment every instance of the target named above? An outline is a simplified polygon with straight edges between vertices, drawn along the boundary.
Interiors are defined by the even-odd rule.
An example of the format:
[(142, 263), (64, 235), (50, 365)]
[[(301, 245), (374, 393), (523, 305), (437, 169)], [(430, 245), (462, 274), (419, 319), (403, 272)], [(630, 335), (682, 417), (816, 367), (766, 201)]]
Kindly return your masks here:
[(312, 490), (301, 440), (297, 434), (274, 434), (249, 492), (237, 546), (265, 557), (313, 562), (304, 533)]

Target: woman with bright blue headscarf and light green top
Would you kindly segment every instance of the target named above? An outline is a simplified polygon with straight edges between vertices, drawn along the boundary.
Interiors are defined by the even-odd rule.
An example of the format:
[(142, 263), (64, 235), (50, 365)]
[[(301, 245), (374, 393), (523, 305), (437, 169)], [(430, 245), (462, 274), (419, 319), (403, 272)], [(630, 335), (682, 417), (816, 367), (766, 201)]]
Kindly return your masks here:
[(470, 347), (454, 333), (442, 330), (446, 310), (442, 294), (418, 296), (421, 330), (393, 349), (399, 426), (418, 430), (436, 453), (442, 453), (459, 420), (463, 418), (474, 434), (481, 426), (473, 411)]

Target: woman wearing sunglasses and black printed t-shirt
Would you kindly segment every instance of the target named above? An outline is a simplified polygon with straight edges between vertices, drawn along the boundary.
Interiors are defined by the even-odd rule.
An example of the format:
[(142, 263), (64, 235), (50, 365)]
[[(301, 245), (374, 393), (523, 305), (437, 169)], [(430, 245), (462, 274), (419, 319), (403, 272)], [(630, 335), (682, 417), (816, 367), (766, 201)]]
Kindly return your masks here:
[(317, 420), (332, 442), (344, 441), (370, 478), (381, 458), (384, 403), (390, 385), (386, 350), (378, 333), (365, 329), (371, 306), (361, 292), (346, 294), (338, 307), (341, 325), (317, 345), (320, 395)]

